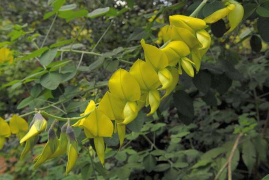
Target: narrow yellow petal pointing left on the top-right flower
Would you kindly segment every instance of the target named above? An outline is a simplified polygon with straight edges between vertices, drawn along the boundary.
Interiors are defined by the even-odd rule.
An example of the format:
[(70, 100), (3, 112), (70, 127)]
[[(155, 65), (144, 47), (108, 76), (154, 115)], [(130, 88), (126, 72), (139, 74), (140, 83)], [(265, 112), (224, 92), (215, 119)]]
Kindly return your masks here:
[(206, 23), (214, 23), (214, 22), (218, 21), (219, 19), (222, 19), (223, 17), (228, 15), (230, 13), (230, 11), (233, 10), (234, 8), (235, 8), (234, 4), (229, 4), (228, 6), (222, 8), (222, 9), (218, 9), (218, 10), (214, 11), (213, 13), (211, 13), (210, 15), (205, 17), (203, 20)]

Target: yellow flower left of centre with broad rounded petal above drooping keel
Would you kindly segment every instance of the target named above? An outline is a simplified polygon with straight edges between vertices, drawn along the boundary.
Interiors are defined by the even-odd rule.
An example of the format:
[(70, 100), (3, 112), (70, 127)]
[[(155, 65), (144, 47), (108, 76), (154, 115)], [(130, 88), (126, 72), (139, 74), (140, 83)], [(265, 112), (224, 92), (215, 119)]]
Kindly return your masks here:
[(126, 70), (116, 70), (108, 80), (109, 91), (125, 102), (124, 120), (120, 124), (130, 123), (138, 113), (136, 101), (140, 98), (140, 87), (135, 78)]

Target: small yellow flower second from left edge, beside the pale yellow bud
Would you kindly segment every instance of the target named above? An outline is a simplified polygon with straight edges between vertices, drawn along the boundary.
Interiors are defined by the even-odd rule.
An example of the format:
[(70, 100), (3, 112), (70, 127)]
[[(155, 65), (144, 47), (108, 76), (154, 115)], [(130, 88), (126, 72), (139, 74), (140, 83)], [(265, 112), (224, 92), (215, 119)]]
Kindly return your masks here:
[(17, 134), (18, 138), (21, 139), (28, 130), (28, 123), (26, 120), (16, 114), (13, 114), (9, 121), (10, 131), (12, 134)]

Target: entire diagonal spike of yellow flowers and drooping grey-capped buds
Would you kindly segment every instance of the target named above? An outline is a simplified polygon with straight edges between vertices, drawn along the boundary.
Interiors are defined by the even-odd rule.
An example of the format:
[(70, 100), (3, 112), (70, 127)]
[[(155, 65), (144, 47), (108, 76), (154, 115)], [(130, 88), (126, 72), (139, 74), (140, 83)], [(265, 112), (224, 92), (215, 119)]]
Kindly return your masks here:
[[(169, 95), (176, 87), (179, 75), (185, 73), (194, 76), (194, 68), (198, 73), (202, 56), (211, 44), (211, 37), (206, 31), (206, 23), (213, 23), (225, 16), (230, 22), (232, 31), (241, 20), (241, 5), (234, 0), (225, 2), (226, 7), (220, 9), (204, 19), (184, 15), (169, 16), (170, 24), (161, 27), (159, 37), (163, 45), (158, 48), (141, 39), (144, 50), (144, 60), (137, 59), (129, 71), (119, 68), (108, 80), (108, 90), (98, 105), (90, 100), (84, 112), (72, 126), (83, 128), (87, 138), (93, 138), (95, 151), (104, 164), (105, 144), (103, 137), (111, 137), (113, 132), (118, 134), (119, 146), (124, 141), (126, 124), (132, 122), (138, 111), (144, 106), (150, 107), (147, 115), (153, 114), (160, 101)], [(234, 17), (235, 13), (240, 13)], [(183, 70), (182, 70), (183, 69)], [(14, 118), (13, 118), (14, 117)], [(12, 133), (25, 131), (25, 123), (13, 116), (10, 121)], [(16, 121), (16, 122), (15, 122)], [(23, 125), (14, 125), (23, 123)], [(114, 122), (114, 126), (113, 126)], [(6, 122), (5, 122), (6, 123)], [(0, 147), (4, 137), (9, 136), (6, 126), (0, 118)], [(29, 131), (20, 139), (25, 143), (21, 158), (33, 147), (37, 135), (45, 130), (46, 120), (40, 113), (36, 113), (30, 124)], [(67, 123), (61, 128), (60, 137), (57, 138), (53, 128), (49, 128), (48, 141), (42, 153), (36, 157), (35, 167), (47, 159), (67, 153), (68, 161), (66, 174), (74, 166), (78, 157), (78, 144), (71, 126)]]

